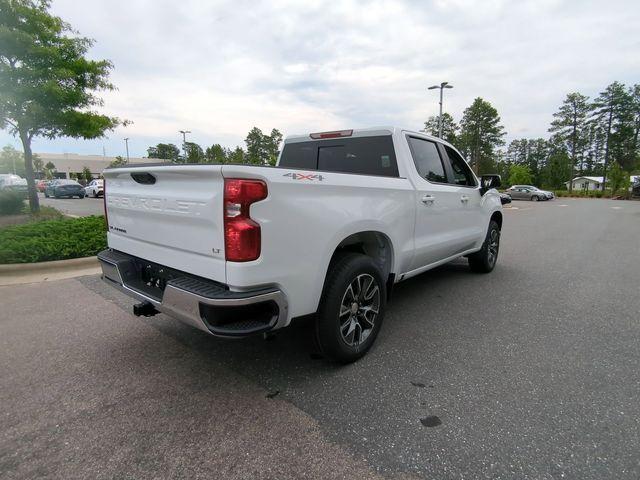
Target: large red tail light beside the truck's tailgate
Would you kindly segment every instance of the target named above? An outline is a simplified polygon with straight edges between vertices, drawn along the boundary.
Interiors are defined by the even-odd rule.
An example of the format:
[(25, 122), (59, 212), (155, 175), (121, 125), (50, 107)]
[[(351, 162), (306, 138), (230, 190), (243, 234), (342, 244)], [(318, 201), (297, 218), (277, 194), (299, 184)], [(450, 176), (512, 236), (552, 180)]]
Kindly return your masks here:
[(224, 181), (224, 248), (230, 262), (249, 262), (260, 256), (260, 225), (251, 219), (250, 206), (267, 198), (261, 180), (227, 178)]

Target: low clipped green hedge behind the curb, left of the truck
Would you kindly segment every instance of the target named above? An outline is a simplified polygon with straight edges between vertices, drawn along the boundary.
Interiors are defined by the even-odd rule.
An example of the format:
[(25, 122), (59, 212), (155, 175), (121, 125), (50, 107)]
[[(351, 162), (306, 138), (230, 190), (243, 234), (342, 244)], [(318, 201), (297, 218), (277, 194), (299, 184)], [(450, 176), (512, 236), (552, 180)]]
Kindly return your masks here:
[(90, 257), (105, 248), (104, 217), (47, 220), (0, 229), (0, 264)]

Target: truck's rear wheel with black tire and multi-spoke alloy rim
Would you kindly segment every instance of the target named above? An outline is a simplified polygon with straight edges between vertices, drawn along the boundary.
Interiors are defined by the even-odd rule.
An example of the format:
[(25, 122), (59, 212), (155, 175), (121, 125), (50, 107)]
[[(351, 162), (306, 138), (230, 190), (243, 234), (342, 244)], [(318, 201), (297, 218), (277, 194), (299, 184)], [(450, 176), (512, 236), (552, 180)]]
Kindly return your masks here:
[(382, 272), (371, 257), (339, 254), (329, 266), (316, 318), (323, 355), (346, 364), (367, 353), (382, 327), (386, 298)]

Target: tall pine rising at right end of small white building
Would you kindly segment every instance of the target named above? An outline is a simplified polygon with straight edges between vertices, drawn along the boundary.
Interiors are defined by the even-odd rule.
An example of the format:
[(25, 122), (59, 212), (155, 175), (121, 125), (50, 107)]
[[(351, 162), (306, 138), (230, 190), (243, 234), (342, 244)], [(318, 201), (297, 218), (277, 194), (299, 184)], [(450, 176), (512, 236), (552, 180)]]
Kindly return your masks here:
[(594, 121), (604, 132), (604, 165), (602, 190), (607, 181), (607, 169), (613, 157), (623, 169), (635, 163), (633, 149), (633, 97), (620, 82), (613, 82), (593, 102)]

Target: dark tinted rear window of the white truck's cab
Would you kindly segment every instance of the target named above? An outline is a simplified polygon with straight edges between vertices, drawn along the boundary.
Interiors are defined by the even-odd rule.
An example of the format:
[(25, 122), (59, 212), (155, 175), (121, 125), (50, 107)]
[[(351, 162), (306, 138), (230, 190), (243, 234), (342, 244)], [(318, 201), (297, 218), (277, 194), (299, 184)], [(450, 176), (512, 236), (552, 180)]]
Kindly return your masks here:
[(287, 143), (279, 165), (325, 172), (398, 176), (391, 135)]

